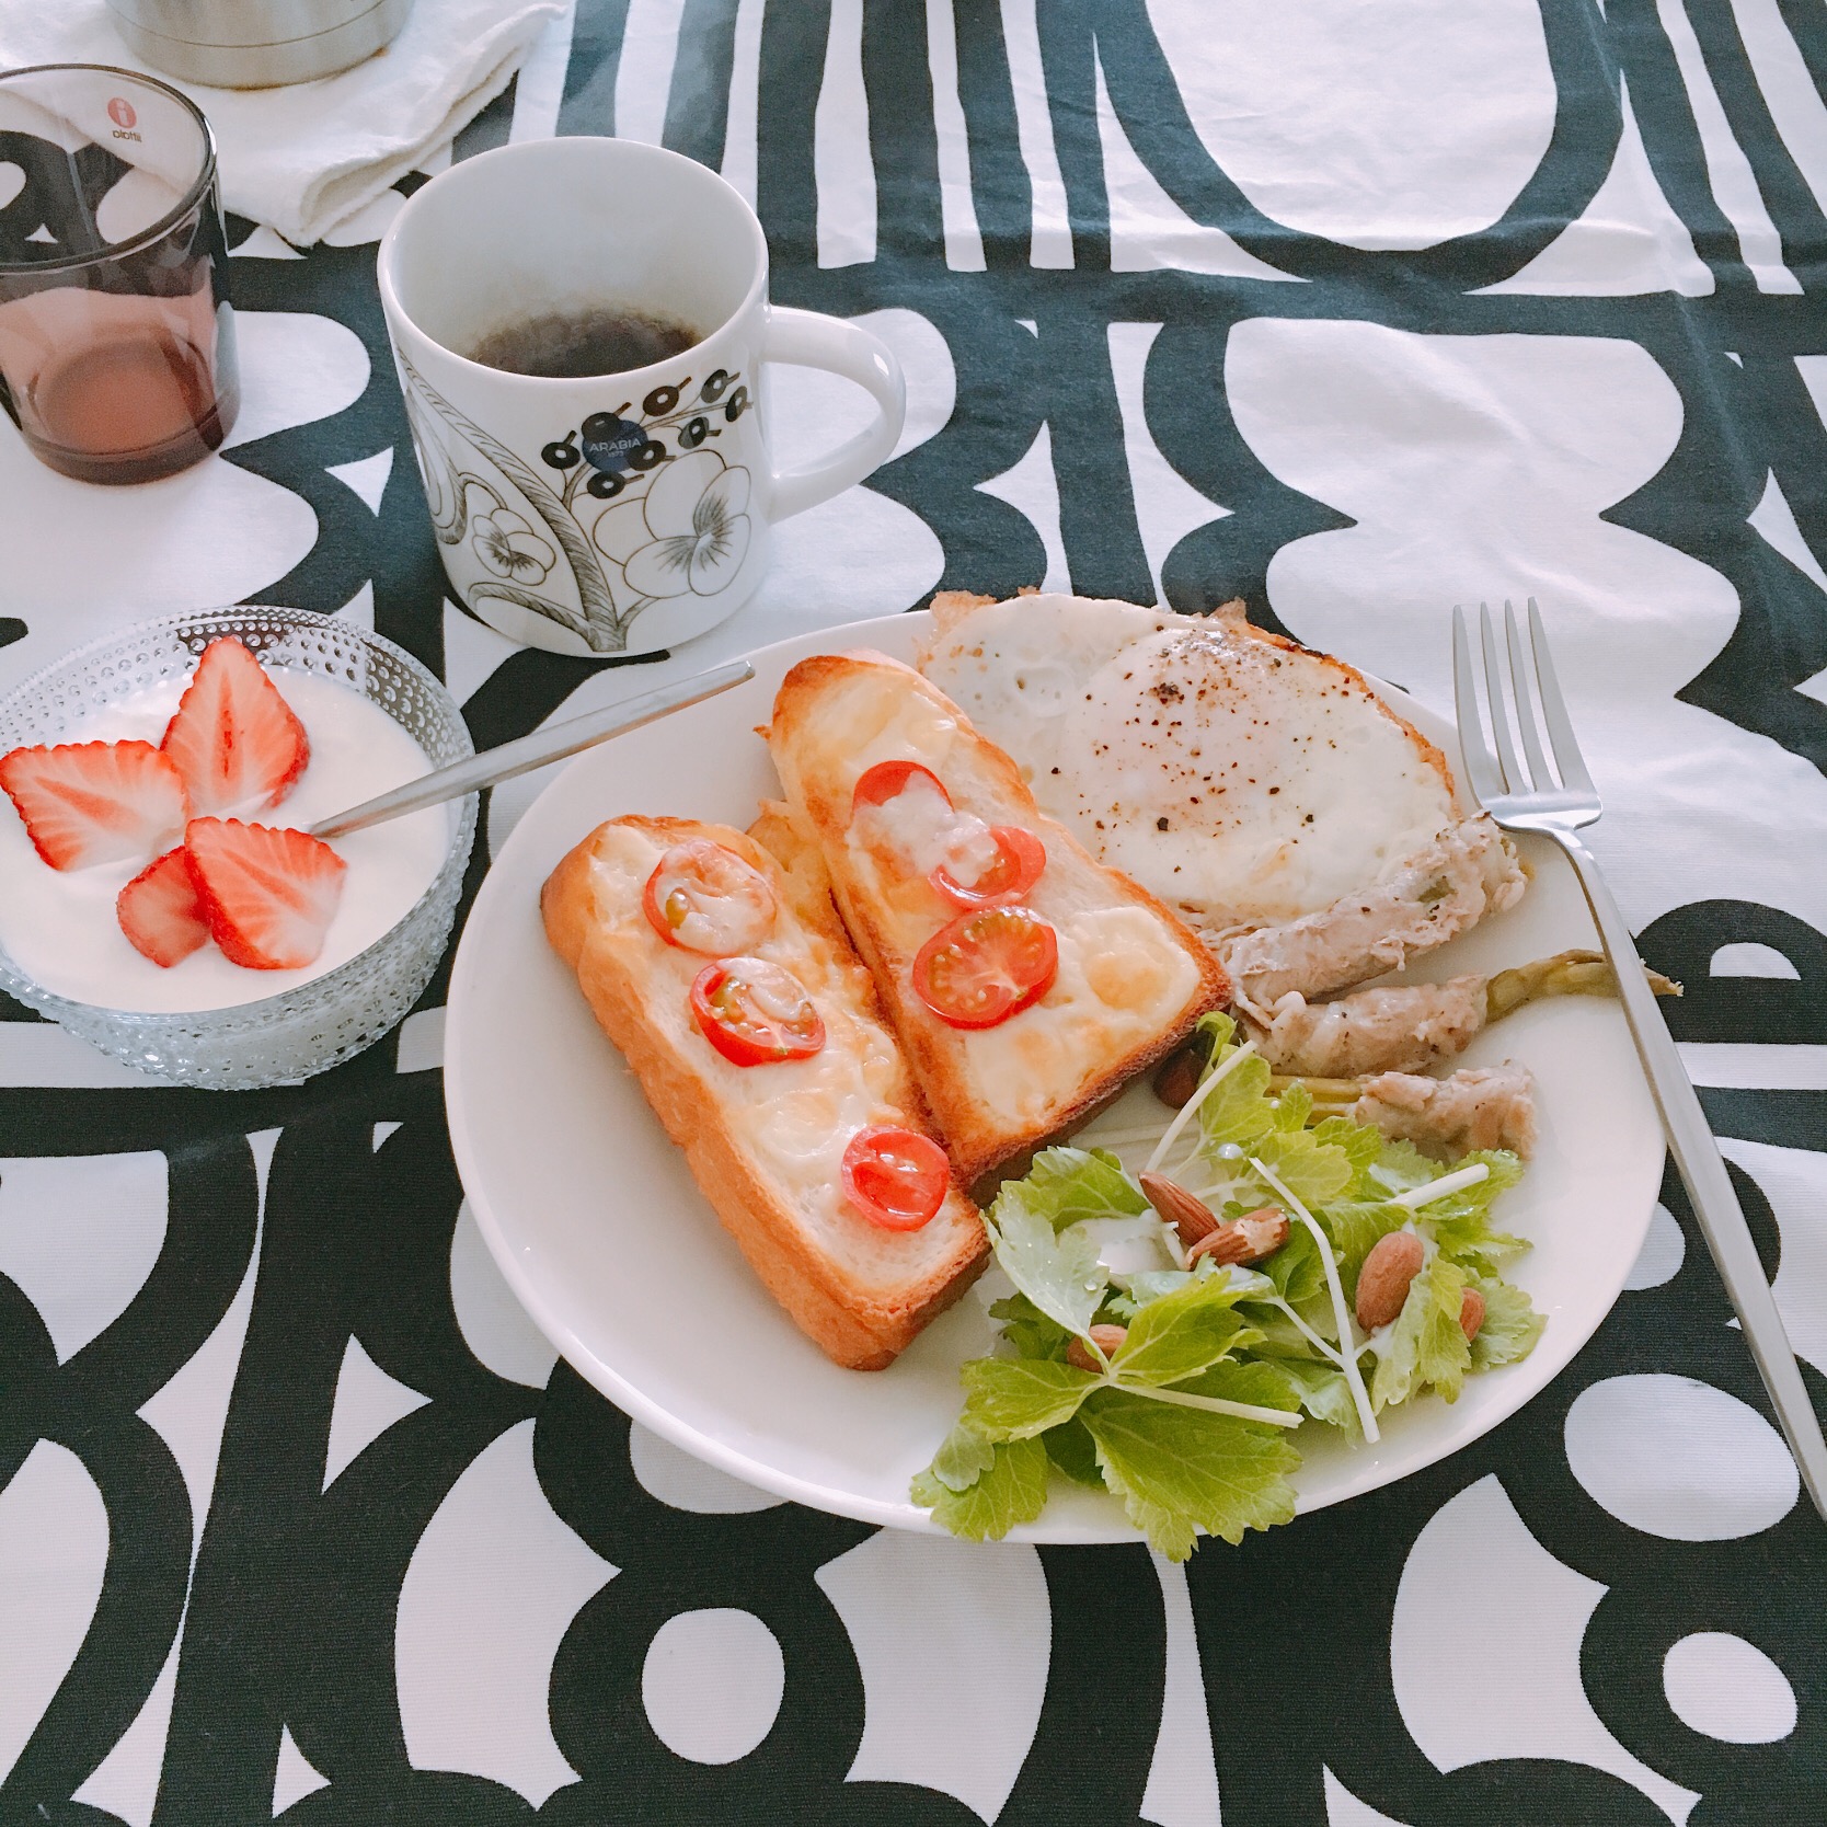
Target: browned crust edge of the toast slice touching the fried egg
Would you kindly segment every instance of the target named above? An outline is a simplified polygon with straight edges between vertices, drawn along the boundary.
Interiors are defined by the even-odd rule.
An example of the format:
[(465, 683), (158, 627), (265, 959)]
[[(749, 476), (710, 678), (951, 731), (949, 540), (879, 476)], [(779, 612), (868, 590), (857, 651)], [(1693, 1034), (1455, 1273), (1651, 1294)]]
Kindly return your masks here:
[[(1056, 871), (1056, 879), (1089, 884), (1085, 893), (1100, 895), (1104, 906), (1146, 908), (1158, 917), (1164, 943), (1177, 946), (1193, 963), (1195, 988), (1173, 1014), (1146, 1040), (1116, 1054), (1100, 1052), (1083, 1058), (1076, 1087), (1056, 1098), (1038, 1122), (1018, 1124), (1001, 1118), (985, 1107), (981, 1096), (972, 1089), (965, 1063), (970, 1036), (939, 1021), (912, 994), (912, 950), (890, 934), (881, 906), (850, 866), (846, 831), (851, 817), (851, 784), (848, 780), (833, 782), (817, 767), (798, 766), (798, 751), (808, 740), (806, 733), (817, 723), (826, 694), (864, 669), (901, 674), (910, 691), (919, 691), (948, 707), (957, 720), (963, 740), (972, 745), (972, 766), (988, 780), (987, 797), (994, 798), (998, 808), (1007, 808), (1007, 815), (998, 811), (994, 822), (1016, 822), (1034, 831), (1047, 846), (1049, 871)], [(1096, 862), (1065, 826), (1045, 817), (1034, 804), (1034, 795), (1016, 764), (994, 744), (977, 736), (965, 714), (912, 667), (877, 652), (818, 654), (802, 660), (786, 676), (775, 700), (769, 747), (795, 824), (809, 828), (818, 837), (839, 912), (857, 952), (875, 974), (882, 1007), (888, 1010), (934, 1120), (945, 1135), (946, 1149), (963, 1184), (972, 1186), (999, 1164), (1027, 1155), (1045, 1140), (1071, 1131), (1127, 1080), (1171, 1052), (1206, 1010), (1219, 1009), (1228, 1001), (1230, 981), (1224, 968), (1199, 937), (1167, 906), (1125, 875)], [(932, 930), (937, 930), (937, 924), (935, 919)], [(1038, 1007), (1045, 1007), (1045, 1001)], [(1025, 1018), (1016, 1016), (1014, 1019)]]

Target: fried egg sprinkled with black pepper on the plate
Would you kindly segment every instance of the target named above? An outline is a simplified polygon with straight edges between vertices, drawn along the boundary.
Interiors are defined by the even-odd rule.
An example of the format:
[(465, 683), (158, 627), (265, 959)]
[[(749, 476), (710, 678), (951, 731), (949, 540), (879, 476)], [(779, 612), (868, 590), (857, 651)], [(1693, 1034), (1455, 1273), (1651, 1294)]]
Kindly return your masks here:
[(1094, 857), (1199, 926), (1315, 914), (1458, 817), (1445, 756), (1363, 674), (1241, 614), (935, 608), (926, 678)]

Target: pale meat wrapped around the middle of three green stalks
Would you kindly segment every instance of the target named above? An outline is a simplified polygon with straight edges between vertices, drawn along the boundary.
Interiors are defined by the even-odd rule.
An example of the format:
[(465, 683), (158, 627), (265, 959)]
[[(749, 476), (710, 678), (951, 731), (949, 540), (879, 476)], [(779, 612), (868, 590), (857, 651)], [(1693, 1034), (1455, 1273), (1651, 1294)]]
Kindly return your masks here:
[(1250, 1021), (1257, 1052), (1277, 1072), (1359, 1078), (1365, 1072), (1416, 1072), (1463, 1052), (1485, 1023), (1485, 979), (1396, 983), (1357, 990), (1336, 1003), (1310, 1003), (1288, 990), (1268, 1023)]

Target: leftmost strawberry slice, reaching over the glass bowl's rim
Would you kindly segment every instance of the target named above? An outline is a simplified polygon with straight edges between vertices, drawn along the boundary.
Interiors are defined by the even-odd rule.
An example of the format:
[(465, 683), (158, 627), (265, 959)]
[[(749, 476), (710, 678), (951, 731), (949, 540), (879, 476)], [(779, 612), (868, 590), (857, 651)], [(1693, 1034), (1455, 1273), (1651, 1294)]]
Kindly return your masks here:
[(66, 742), (0, 756), (26, 835), (53, 870), (143, 862), (185, 829), (177, 769), (150, 742)]

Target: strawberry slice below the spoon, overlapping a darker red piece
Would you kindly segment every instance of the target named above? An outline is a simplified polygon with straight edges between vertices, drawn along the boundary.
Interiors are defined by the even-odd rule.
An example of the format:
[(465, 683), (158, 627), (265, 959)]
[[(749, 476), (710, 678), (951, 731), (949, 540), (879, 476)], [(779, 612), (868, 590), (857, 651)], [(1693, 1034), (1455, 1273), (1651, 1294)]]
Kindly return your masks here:
[(323, 934), (347, 864), (307, 831), (239, 818), (192, 818), (185, 853), (210, 935), (248, 970), (300, 970)]

